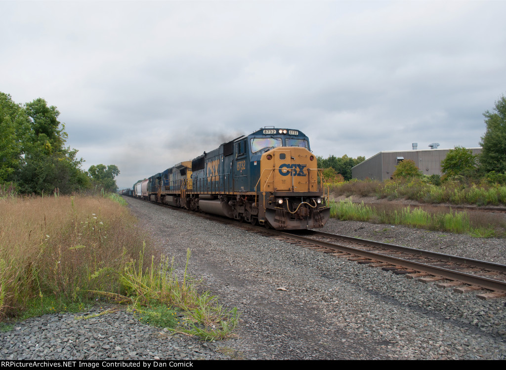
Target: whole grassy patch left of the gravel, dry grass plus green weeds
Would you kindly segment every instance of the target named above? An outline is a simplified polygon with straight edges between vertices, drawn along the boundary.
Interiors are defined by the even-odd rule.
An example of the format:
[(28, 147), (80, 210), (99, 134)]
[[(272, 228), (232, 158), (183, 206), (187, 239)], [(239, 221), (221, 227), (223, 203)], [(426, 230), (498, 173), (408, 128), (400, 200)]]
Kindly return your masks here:
[(174, 259), (156, 251), (122, 202), (116, 194), (0, 199), (2, 330), (12, 320), (82, 312), (107, 299), (128, 304), (141, 321), (205, 340), (231, 335), (237, 310), (199, 293), (190, 251), (179, 278)]

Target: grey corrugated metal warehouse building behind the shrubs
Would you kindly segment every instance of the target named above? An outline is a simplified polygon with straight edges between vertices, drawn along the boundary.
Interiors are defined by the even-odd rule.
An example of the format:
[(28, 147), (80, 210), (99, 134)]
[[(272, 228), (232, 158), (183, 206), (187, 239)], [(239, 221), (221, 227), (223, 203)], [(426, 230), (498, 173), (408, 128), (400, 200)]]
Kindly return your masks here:
[[(413, 144), (414, 145), (414, 144)], [(439, 144), (438, 144), (439, 145)], [(481, 148), (468, 148), (473, 154), (481, 153)], [(352, 168), (352, 178), (358, 180), (388, 180), (392, 178), (395, 167), (405, 159), (412, 159), (424, 175), (442, 175), (441, 161), (451, 149), (423, 149), (404, 151), (383, 151), (364, 160)]]

